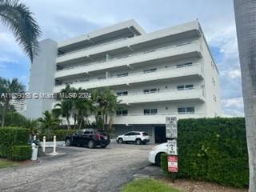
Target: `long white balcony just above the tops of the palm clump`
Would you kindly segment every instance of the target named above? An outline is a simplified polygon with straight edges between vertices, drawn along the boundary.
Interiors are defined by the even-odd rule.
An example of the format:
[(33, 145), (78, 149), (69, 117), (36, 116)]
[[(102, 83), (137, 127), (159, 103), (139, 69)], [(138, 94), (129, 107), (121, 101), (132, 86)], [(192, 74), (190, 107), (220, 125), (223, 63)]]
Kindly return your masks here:
[[(129, 74), (125, 77), (109, 77), (106, 79), (98, 80), (93, 79), (86, 82), (70, 82), (69, 84), (74, 88), (82, 87), (84, 89), (100, 88), (104, 86), (127, 86), (134, 83), (140, 82), (152, 82), (157, 80), (164, 80), (169, 78), (178, 77), (189, 77), (195, 76), (202, 78), (202, 65), (200, 63), (194, 63), (190, 66), (177, 67), (172, 66), (168, 68), (158, 69), (151, 73), (138, 72), (134, 74)], [(66, 85), (59, 85), (54, 87), (54, 93), (58, 93), (60, 90), (64, 89)]]

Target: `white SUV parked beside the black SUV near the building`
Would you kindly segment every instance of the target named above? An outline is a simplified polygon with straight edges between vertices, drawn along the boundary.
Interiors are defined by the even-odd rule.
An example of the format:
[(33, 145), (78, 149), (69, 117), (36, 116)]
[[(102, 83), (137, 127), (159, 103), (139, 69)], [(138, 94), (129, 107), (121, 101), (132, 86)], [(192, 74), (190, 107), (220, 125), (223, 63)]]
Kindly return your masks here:
[(118, 135), (116, 140), (119, 144), (126, 142), (135, 142), (137, 145), (141, 145), (149, 142), (150, 136), (144, 131), (130, 131), (126, 134)]

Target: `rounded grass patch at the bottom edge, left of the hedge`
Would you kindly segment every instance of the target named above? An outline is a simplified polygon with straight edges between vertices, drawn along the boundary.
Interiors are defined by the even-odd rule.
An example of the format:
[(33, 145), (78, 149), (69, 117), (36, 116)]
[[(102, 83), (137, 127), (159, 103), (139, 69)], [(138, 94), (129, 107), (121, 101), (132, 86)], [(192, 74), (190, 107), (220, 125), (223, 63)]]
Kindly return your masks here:
[(179, 192), (166, 183), (154, 179), (138, 179), (122, 186), (122, 192)]

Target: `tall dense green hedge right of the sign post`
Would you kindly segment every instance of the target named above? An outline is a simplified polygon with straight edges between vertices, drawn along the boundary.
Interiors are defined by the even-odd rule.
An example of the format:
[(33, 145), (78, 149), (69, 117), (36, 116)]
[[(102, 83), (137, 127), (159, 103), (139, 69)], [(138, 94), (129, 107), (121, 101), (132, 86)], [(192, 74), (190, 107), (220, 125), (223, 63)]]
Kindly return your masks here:
[(178, 166), (178, 177), (248, 186), (245, 119), (179, 120)]

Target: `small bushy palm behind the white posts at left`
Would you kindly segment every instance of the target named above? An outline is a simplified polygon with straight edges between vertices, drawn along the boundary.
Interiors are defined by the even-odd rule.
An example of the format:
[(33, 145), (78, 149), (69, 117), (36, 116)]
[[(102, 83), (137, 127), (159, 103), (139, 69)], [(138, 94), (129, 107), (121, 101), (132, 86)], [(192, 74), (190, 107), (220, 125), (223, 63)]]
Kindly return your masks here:
[(60, 120), (58, 118), (55, 118), (49, 110), (46, 110), (42, 114), (44, 115), (44, 117), (38, 118), (38, 122), (40, 122), (41, 124), (42, 134), (50, 134), (51, 130), (59, 125)]

